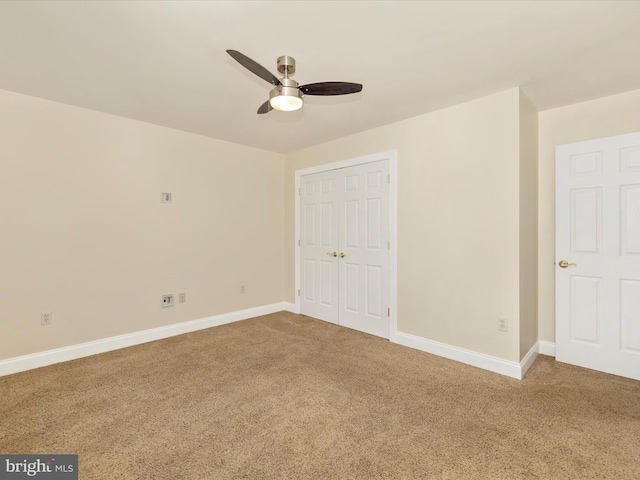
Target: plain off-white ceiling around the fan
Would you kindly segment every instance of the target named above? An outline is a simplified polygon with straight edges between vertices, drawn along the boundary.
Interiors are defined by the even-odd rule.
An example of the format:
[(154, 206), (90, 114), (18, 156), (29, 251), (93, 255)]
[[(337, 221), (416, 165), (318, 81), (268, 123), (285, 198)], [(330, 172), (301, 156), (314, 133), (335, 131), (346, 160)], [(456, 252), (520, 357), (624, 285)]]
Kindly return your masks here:
[[(640, 1), (3, 1), (0, 88), (290, 152), (520, 86), (539, 110), (640, 88)], [(257, 115), (270, 84), (362, 83)]]

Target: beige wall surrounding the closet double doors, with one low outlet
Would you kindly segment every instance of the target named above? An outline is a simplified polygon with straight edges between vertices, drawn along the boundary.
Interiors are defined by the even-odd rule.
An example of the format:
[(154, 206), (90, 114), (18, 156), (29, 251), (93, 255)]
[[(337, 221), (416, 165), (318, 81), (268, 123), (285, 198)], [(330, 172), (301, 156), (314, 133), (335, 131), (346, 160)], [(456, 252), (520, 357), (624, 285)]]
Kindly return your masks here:
[(519, 361), (519, 103), (512, 89), (289, 154), (286, 300), (295, 170), (397, 149), (398, 329)]

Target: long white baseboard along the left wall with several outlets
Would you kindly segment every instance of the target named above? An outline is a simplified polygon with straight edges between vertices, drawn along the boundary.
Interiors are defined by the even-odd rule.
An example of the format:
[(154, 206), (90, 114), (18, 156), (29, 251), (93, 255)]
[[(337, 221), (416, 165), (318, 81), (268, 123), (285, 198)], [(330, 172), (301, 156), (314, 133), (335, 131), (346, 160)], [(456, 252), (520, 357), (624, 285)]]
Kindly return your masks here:
[(195, 332), (205, 328), (217, 327), (227, 323), (259, 317), (269, 313), (281, 312), (286, 309), (285, 302), (248, 308), (236, 312), (223, 313), (212, 317), (200, 318), (189, 322), (174, 323), (164, 327), (151, 328), (140, 332), (127, 333), (116, 337), (103, 338), (92, 342), (80, 343), (68, 347), (56, 348), (44, 352), (33, 353), (21, 357), (0, 360), (0, 377), (12, 373), (24, 372), (34, 368), (45, 367), (55, 363), (88, 357), (98, 353), (110, 352), (119, 348), (131, 347), (141, 343), (153, 342), (163, 338)]

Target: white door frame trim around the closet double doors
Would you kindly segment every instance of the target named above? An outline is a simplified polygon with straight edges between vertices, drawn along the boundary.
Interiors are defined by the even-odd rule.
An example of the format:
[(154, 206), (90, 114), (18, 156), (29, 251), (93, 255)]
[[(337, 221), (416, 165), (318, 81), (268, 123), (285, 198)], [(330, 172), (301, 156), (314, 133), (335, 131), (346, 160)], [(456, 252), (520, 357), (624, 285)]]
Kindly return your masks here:
[(295, 171), (295, 190), (293, 191), (295, 201), (295, 233), (294, 233), (294, 248), (295, 248), (295, 285), (294, 285), (294, 313), (300, 313), (300, 297), (298, 292), (300, 291), (300, 246), (298, 242), (300, 240), (300, 178), (303, 175), (310, 175), (313, 173), (328, 172), (330, 170), (338, 170), (345, 167), (353, 167), (356, 165), (363, 165), (366, 163), (378, 162), (380, 160), (389, 160), (389, 174), (391, 176), (389, 182), (389, 239), (391, 242), (391, 248), (389, 249), (389, 308), (391, 309), (391, 315), (389, 315), (389, 340), (395, 342), (397, 328), (397, 313), (398, 313), (398, 224), (397, 224), (397, 205), (398, 205), (398, 191), (397, 191), (397, 150), (389, 150), (386, 152), (373, 153), (371, 155), (365, 155), (362, 157), (351, 158), (348, 160), (341, 160), (338, 162), (324, 163), (315, 167), (303, 168)]

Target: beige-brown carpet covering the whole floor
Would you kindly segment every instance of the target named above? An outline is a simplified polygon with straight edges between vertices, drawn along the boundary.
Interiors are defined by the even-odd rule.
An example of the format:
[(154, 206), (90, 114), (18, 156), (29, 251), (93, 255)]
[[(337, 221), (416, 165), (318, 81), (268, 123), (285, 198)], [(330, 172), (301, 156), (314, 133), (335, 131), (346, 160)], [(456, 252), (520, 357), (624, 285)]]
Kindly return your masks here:
[(640, 382), (277, 313), (0, 378), (0, 453), (77, 453), (83, 480), (638, 479)]

